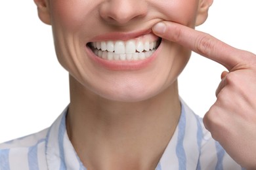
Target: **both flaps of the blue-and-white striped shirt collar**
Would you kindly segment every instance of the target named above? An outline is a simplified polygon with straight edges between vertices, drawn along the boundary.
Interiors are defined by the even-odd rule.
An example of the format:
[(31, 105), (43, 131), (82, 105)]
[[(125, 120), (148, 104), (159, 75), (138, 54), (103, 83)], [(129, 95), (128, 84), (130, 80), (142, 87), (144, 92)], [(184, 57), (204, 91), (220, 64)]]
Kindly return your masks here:
[[(49, 128), (47, 134), (45, 152), (49, 170), (86, 169), (68, 138), (66, 132), (67, 112), (68, 107)], [(199, 147), (202, 141), (200, 131), (202, 131), (200, 119), (181, 99), (179, 124), (156, 169), (196, 169), (200, 156)]]

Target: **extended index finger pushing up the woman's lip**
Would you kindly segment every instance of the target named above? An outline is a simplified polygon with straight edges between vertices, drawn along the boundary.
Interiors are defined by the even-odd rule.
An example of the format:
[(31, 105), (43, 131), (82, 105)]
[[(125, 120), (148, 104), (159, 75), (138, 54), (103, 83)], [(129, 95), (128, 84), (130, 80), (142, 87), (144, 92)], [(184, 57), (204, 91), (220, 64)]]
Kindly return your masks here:
[(206, 58), (221, 63), (229, 71), (247, 60), (248, 55), (245, 55), (244, 51), (219, 41), (207, 33), (181, 24), (160, 22), (152, 27), (152, 31), (163, 39), (177, 42)]

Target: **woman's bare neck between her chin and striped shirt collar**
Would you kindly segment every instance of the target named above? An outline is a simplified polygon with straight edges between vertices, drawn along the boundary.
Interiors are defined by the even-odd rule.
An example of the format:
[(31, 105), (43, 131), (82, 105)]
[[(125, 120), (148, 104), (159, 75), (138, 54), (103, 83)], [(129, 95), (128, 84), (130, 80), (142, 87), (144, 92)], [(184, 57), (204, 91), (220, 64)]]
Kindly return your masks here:
[(68, 136), (88, 169), (154, 169), (181, 114), (177, 82), (133, 103), (104, 99), (70, 78), (70, 98)]

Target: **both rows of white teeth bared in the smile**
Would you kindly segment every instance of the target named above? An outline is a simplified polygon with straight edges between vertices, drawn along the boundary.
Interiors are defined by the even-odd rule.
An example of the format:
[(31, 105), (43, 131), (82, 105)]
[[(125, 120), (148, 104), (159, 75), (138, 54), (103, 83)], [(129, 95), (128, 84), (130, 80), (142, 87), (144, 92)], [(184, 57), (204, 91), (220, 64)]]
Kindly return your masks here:
[(157, 41), (102, 41), (92, 42), (91, 46), (95, 48), (94, 52), (100, 58), (109, 60), (137, 60), (151, 56), (157, 46)]

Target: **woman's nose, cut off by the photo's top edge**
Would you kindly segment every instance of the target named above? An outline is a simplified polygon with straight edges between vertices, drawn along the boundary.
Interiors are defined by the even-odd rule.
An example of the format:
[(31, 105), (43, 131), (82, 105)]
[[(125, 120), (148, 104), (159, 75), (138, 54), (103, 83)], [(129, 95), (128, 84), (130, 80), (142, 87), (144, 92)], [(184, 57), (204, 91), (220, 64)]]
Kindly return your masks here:
[(147, 12), (144, 0), (109, 0), (100, 6), (100, 17), (110, 24), (127, 24), (143, 18)]

